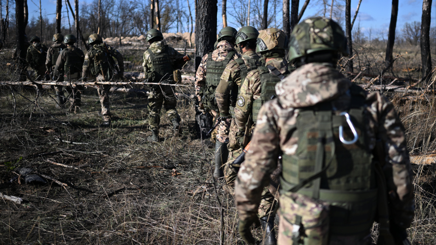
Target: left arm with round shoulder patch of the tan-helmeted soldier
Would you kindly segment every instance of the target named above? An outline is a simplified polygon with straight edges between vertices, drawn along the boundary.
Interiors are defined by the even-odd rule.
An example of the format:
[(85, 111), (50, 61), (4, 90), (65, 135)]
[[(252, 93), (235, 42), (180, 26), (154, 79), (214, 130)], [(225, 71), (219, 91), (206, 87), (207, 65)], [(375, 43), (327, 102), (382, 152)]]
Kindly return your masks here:
[(251, 71), (248, 73), (247, 77), (241, 85), (241, 89), (236, 100), (236, 125), (238, 126), (238, 129), (240, 131), (244, 131), (253, 105), (252, 86), (255, 83), (260, 83), (260, 78), (259, 76), (255, 76), (255, 72), (256, 71)]

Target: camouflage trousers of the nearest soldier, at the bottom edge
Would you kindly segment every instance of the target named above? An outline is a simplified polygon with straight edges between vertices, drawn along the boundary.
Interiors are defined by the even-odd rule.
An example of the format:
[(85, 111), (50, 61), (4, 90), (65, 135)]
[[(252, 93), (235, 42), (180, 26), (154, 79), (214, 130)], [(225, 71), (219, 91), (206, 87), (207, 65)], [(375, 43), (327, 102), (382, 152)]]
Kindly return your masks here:
[(294, 240), (298, 240), (298, 244), (305, 245), (371, 244), (370, 230), (352, 236), (329, 234), (330, 207), (324, 201), (291, 192), (280, 193), (279, 199), (280, 222), (277, 239), (279, 245), (296, 244)]

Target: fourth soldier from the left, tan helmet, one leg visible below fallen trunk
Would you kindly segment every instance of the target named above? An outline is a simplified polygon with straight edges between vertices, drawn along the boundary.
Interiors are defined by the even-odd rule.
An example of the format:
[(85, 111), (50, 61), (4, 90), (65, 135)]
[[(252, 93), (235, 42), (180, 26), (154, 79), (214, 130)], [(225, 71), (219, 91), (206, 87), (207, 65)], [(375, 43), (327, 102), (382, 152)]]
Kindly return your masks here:
[[(98, 82), (114, 82), (124, 75), (123, 55), (118, 50), (107, 46), (99, 34), (93, 33), (88, 38), (90, 50), (85, 54), (83, 62), (82, 80), (96, 80)], [(117, 59), (118, 67), (113, 59)], [(97, 88), (100, 97), (101, 115), (103, 117), (102, 127), (111, 126), (111, 110), (109, 101), (109, 90), (111, 85), (102, 84)]]

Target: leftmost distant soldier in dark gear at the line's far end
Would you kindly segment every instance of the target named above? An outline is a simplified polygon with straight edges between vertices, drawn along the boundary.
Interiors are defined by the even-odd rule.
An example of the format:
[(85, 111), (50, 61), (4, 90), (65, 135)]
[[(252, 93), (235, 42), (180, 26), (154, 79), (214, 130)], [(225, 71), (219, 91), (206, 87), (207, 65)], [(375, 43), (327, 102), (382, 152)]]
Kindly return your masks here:
[(47, 47), (41, 44), (41, 39), (37, 36), (30, 38), (31, 45), (27, 48), (26, 61), (34, 69), (36, 79), (44, 80), (47, 68), (44, 64), (46, 59)]

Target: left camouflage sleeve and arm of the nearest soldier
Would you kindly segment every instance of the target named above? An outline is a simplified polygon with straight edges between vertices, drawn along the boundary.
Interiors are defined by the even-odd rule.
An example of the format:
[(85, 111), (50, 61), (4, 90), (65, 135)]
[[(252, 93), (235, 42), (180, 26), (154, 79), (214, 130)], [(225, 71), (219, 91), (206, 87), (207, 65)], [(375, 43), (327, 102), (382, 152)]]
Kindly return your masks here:
[(235, 182), (235, 201), (241, 220), (257, 215), (262, 190), (269, 184), (270, 173), (277, 166), (279, 130), (271, 102), (265, 103), (259, 112), (263, 120), (257, 122)]

